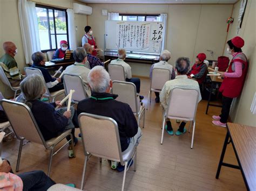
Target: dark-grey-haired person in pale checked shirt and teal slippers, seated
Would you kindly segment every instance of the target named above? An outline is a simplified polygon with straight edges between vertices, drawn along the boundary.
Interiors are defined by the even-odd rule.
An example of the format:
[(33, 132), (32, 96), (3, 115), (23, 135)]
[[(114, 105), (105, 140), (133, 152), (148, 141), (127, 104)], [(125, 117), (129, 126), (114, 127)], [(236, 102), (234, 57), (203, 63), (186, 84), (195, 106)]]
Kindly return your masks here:
[[(177, 72), (177, 76), (174, 80), (167, 81), (164, 84), (163, 89), (160, 92), (160, 102), (161, 106), (166, 110), (167, 105), (169, 104), (169, 96), (171, 90), (176, 87), (180, 88), (191, 88), (196, 89), (200, 92), (198, 82), (192, 79), (188, 79), (187, 72), (190, 68), (190, 60), (186, 57), (178, 58), (176, 61), (175, 69)], [(199, 95), (199, 101), (201, 100), (201, 94)], [(179, 125), (178, 131), (176, 131), (176, 135), (181, 135), (186, 132), (185, 128), (186, 122), (183, 121)], [(169, 133), (169, 135), (173, 135), (173, 129), (170, 119), (166, 119), (165, 130)]]

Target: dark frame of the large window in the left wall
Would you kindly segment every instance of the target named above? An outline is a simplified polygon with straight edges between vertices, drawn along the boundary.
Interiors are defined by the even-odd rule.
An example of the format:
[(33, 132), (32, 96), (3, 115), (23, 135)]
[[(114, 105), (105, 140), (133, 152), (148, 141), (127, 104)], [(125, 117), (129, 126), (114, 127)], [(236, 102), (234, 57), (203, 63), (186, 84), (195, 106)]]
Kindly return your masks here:
[[(50, 43), (50, 49), (44, 49), (44, 50), (41, 50), (41, 52), (46, 53), (48, 51), (56, 51), (56, 49), (58, 49), (57, 35), (66, 35), (67, 41), (68, 41), (68, 44), (69, 44), (69, 24), (68, 24), (68, 13), (66, 12), (66, 9), (56, 8), (54, 6), (41, 5), (41, 4), (36, 4), (36, 8), (46, 9), (46, 16), (47, 16), (47, 23), (48, 23), (48, 38), (49, 38), (49, 43)], [(53, 10), (52, 14), (53, 14), (54, 34), (51, 34), (51, 30), (50, 30), (49, 9)], [(55, 10), (57, 10), (57, 11), (64, 11), (65, 12), (65, 17), (66, 17), (66, 33), (56, 34)], [(55, 46), (56, 46), (56, 48), (52, 48), (51, 35), (55, 36)]]

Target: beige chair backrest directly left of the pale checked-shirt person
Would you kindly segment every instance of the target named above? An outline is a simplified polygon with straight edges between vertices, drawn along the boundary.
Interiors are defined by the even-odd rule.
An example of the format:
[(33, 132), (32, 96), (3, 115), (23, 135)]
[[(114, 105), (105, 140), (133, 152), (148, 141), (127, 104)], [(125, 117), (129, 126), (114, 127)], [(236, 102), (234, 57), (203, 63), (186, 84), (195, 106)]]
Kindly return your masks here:
[(152, 79), (151, 79), (151, 89), (161, 90), (164, 87), (165, 82), (170, 79), (170, 70), (165, 68), (153, 68)]

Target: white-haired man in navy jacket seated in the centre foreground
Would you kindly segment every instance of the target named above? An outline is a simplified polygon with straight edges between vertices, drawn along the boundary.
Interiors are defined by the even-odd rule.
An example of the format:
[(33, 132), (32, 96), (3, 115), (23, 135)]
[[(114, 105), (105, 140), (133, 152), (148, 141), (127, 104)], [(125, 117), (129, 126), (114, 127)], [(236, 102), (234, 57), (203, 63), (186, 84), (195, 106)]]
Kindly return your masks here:
[[(116, 101), (118, 95), (110, 94), (112, 81), (102, 66), (91, 69), (88, 80), (92, 96), (78, 103), (78, 114), (87, 112), (113, 118), (118, 124), (122, 152), (129, 152), (142, 136), (132, 109), (128, 104)], [(123, 171), (124, 166), (119, 164), (117, 170)]]

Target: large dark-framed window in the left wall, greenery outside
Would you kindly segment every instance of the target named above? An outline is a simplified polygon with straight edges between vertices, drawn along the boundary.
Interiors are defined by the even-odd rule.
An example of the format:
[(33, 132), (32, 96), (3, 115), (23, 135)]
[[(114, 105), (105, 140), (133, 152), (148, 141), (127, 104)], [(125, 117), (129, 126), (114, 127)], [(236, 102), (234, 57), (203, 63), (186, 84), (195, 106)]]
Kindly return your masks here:
[(68, 15), (65, 9), (36, 4), (36, 13), (42, 52), (56, 50), (60, 40), (68, 41)]

